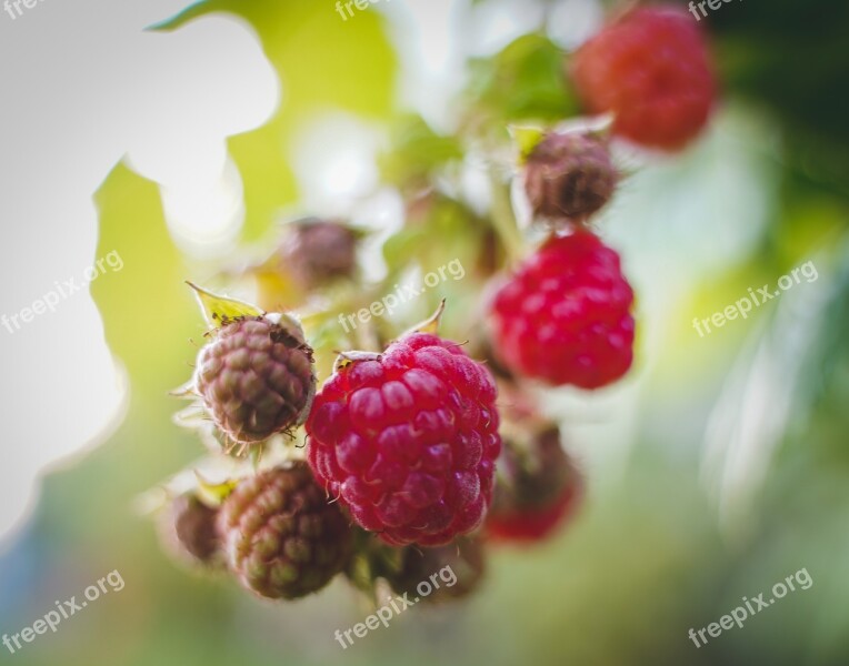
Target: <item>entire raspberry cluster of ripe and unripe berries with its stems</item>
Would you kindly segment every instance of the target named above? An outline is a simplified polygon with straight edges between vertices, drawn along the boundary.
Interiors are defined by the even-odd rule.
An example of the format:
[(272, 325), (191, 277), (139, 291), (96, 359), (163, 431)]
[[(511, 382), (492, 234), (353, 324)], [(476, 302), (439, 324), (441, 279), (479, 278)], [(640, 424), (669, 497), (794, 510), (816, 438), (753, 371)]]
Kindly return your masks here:
[[(490, 543), (542, 542), (572, 514), (583, 482), (539, 412), (539, 390), (602, 389), (633, 363), (635, 294), (595, 226), (621, 180), (613, 139), (682, 148), (705, 127), (716, 85), (698, 29), (677, 9), (630, 10), (573, 56), (552, 46), (540, 58), (545, 40), (530, 37), (493, 59), (488, 81), (511, 82), (510, 94), (478, 91), (462, 134), (440, 137), (421, 119), (398, 132), (383, 176), (407, 199), (408, 219), (386, 240), (382, 281), (359, 270), (364, 232), (309, 218), (286, 225), (270, 259), (240, 275), (260, 305), (191, 285), (209, 330), (178, 421), (203, 437), (204, 463), (224, 478), (187, 470), (172, 480), (162, 535), (182, 562), (273, 599), (301, 598), (339, 574), (372, 598), (381, 585), (406, 594), (439, 573), (445, 585), (428, 599), (450, 601), (480, 585)], [(490, 201), (472, 205), (459, 194), (458, 162), (505, 137), (507, 118), (527, 110), (520, 120), (531, 122), (571, 98), (548, 90), (543, 103), (525, 103), (538, 94), (521, 88), (528, 71), (549, 56), (546, 85), (563, 85), (565, 69), (587, 110), (612, 122), (511, 128), (521, 130), (512, 193), (523, 189), (533, 216), (526, 236), (500, 172), (489, 174)], [(491, 160), (465, 163), (509, 154), (493, 148)], [(426, 273), (435, 256), (441, 269)], [(455, 262), (463, 270), (451, 282)], [(398, 307), (398, 282), (417, 273), (428, 289)], [(404, 311), (398, 319), (390, 299)], [(401, 317), (410, 325), (436, 302), (436, 315), (401, 333)], [(344, 312), (361, 326), (339, 326)]]

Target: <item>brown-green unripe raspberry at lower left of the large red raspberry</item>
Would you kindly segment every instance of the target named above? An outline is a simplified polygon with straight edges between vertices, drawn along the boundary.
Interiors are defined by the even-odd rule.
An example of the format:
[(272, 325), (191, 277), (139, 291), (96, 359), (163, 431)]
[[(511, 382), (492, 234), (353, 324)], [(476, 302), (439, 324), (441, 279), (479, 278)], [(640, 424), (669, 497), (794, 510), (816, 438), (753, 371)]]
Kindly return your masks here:
[(352, 531), (306, 463), (246, 478), (218, 518), (227, 562), (248, 589), (293, 599), (321, 589), (351, 557)]

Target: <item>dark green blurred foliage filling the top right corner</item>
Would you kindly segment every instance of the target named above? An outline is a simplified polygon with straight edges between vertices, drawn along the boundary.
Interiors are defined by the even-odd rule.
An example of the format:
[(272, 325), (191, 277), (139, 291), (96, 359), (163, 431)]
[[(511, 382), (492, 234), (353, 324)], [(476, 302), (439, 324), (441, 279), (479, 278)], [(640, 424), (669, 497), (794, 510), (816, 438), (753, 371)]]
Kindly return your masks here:
[(849, 4), (740, 2), (710, 20), (723, 87), (781, 120), (797, 176), (849, 195)]

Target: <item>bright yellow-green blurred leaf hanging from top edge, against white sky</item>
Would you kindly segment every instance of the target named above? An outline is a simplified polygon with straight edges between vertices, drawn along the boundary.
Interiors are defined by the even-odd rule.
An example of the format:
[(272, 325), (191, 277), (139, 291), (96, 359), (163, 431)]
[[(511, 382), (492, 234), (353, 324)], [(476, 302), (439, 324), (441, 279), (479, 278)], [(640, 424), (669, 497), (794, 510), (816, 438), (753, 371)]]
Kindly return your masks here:
[(380, 12), (343, 21), (332, 3), (314, 0), (208, 0), (169, 28), (199, 16), (233, 13), (250, 22), (281, 83), (277, 113), (261, 128), (232, 137), (228, 148), (244, 183), (244, 240), (264, 238), (281, 209), (299, 199), (290, 163), (298, 134), (333, 110), (387, 119), (394, 108), (397, 57)]

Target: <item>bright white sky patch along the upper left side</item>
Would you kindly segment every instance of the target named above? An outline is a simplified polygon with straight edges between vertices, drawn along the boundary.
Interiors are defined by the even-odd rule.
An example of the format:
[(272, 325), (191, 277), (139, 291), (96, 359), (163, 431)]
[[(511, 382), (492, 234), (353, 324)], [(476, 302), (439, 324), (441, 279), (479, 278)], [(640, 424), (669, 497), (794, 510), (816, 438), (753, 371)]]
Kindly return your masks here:
[[(142, 31), (188, 4), (43, 0), (14, 20), (0, 11), (0, 315), (54, 282), (80, 283), (99, 259), (92, 195), (124, 155), (163, 185), (170, 228), (193, 232), (201, 250), (232, 232), (227, 220), (198, 223), (210, 193), (240, 222), (224, 140), (266, 122), (279, 83), (240, 21)], [(41, 473), (120, 420), (126, 391), (88, 290), (14, 333), (0, 327), (0, 538), (34, 505)]]

